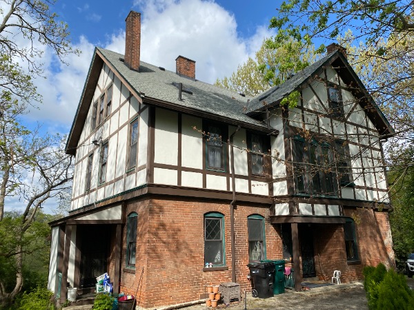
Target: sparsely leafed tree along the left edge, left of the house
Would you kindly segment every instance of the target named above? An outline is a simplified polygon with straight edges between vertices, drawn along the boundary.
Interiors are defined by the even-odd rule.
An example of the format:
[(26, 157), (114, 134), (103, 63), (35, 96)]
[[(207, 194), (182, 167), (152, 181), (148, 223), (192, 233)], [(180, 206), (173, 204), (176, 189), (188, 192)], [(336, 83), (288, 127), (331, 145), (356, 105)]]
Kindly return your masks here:
[[(28, 105), (41, 102), (32, 79), (43, 74), (43, 50), (52, 50), (62, 62), (67, 54), (79, 52), (70, 45), (66, 23), (50, 10), (54, 3), (5, 0), (0, 9), (0, 230), (13, 232), (6, 245), (2, 240), (0, 258), (14, 273), (12, 285), (0, 277), (0, 305), (21, 291), (23, 258), (30, 251), (26, 239), (36, 227), (38, 211), (72, 179), (72, 158), (63, 152), (64, 138), (39, 136), (38, 128), (28, 130), (21, 118)], [(6, 203), (13, 198), (23, 211), (16, 218), (4, 218)]]

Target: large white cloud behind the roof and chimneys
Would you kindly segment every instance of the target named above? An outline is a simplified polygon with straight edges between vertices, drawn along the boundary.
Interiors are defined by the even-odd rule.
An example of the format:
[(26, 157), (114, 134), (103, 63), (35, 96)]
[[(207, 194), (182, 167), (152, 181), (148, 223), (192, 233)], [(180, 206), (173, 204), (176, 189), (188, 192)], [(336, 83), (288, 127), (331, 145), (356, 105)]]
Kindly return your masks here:
[[(186, 56), (196, 61), (197, 79), (208, 83), (229, 76), (237, 65), (254, 55), (264, 37), (270, 36), (266, 25), (262, 25), (253, 37), (242, 39), (237, 35), (234, 15), (214, 1), (139, 0), (135, 4), (142, 19), (141, 60), (175, 71), (177, 56)], [(75, 48), (82, 54), (68, 56), (69, 66), (59, 64), (46, 52), (42, 61), (48, 68), (48, 79), (35, 81), (43, 105), (30, 112), (30, 119), (46, 123), (50, 131), (70, 130), (96, 44), (91, 40), (79, 38)], [(114, 29), (106, 42), (97, 45), (123, 54), (124, 29)]]

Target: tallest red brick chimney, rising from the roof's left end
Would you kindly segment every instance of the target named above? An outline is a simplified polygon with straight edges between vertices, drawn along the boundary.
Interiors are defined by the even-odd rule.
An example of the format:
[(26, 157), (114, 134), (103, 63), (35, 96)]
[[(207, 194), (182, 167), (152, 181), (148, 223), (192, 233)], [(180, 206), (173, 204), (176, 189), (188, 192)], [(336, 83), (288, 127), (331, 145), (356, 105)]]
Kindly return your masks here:
[(132, 70), (138, 70), (141, 52), (141, 13), (130, 11), (125, 22), (125, 64)]

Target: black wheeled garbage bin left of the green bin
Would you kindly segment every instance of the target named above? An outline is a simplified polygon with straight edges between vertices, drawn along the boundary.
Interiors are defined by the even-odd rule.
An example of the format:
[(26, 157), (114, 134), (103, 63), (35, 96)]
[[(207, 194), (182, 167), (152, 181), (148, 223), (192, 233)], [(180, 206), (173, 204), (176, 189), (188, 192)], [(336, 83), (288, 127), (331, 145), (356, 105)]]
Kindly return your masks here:
[(273, 262), (253, 262), (247, 265), (252, 279), (252, 296), (259, 298), (273, 297), (273, 280), (275, 264)]

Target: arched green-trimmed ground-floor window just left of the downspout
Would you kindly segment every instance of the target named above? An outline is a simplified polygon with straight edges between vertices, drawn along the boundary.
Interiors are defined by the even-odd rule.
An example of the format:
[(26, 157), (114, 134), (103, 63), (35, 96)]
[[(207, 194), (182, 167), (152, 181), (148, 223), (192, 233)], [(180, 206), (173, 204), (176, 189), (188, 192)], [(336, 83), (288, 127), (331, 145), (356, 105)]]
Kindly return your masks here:
[(204, 215), (204, 265), (223, 266), (224, 260), (224, 215)]

